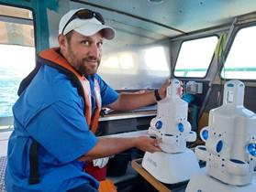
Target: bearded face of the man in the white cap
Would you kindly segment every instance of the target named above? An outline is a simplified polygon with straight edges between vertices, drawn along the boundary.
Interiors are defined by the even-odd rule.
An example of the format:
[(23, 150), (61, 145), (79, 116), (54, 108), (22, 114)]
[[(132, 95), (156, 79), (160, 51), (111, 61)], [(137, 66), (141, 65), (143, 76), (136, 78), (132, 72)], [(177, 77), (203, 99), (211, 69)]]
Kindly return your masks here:
[(85, 37), (73, 31), (70, 40), (65, 37), (64, 42), (61, 53), (75, 69), (84, 76), (96, 73), (102, 55), (103, 37), (100, 33)]

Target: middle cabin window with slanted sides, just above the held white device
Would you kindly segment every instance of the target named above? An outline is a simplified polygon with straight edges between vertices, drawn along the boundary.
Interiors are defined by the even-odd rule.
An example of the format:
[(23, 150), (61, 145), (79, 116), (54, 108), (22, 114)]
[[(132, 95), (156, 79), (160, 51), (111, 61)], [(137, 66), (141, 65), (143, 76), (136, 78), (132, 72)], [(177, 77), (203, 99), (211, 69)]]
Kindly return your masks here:
[(216, 36), (184, 41), (174, 69), (174, 76), (184, 78), (206, 77), (216, 46)]

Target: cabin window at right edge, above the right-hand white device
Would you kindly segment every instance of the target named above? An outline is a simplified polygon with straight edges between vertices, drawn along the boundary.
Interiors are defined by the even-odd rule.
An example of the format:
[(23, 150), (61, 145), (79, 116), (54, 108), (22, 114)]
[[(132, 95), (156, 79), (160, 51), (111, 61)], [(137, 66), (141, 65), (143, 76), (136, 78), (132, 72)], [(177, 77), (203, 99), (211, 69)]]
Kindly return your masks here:
[(223, 79), (256, 80), (256, 27), (239, 30), (221, 71)]

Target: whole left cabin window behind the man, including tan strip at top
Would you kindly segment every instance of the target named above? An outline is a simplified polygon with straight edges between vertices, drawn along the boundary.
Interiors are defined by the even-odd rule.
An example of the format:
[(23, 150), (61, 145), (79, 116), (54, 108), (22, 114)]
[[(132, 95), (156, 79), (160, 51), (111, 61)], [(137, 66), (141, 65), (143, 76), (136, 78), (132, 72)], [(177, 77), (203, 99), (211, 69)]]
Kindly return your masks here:
[[(19, 83), (35, 67), (32, 12), (0, 5), (0, 131), (12, 123)], [(9, 120), (9, 121), (8, 121)]]

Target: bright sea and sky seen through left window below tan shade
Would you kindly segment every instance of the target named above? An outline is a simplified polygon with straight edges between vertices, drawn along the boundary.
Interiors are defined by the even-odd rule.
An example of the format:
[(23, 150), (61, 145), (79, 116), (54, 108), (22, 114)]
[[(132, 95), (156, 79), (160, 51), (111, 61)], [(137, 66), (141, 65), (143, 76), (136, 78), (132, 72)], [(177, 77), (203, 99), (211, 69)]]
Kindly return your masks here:
[[(0, 117), (12, 116), (17, 89), (35, 66), (35, 48), (0, 44)], [(14, 57), (15, 54), (15, 57)]]

